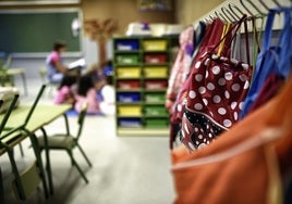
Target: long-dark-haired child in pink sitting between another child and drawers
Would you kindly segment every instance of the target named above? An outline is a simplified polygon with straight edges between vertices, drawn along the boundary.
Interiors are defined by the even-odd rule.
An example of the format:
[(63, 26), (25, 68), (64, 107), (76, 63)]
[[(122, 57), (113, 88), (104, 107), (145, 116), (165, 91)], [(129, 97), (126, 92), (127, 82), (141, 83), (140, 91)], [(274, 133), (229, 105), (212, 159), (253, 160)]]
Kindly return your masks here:
[(84, 102), (87, 103), (87, 113), (89, 114), (99, 114), (99, 102), (97, 100), (97, 93), (94, 86), (94, 81), (90, 77), (90, 75), (84, 75), (81, 76), (77, 85), (77, 92), (75, 95), (76, 102), (75, 102), (75, 111), (81, 112), (82, 104)]

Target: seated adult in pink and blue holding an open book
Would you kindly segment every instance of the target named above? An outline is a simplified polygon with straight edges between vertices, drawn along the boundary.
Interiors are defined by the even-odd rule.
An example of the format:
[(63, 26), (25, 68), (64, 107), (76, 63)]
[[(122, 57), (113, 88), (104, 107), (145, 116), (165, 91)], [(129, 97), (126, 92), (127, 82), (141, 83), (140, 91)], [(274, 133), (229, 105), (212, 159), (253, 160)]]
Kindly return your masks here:
[(53, 50), (46, 59), (47, 77), (50, 82), (60, 84), (64, 74), (68, 73), (68, 67), (63, 64), (61, 54), (65, 52), (66, 44), (62, 41), (53, 43)]

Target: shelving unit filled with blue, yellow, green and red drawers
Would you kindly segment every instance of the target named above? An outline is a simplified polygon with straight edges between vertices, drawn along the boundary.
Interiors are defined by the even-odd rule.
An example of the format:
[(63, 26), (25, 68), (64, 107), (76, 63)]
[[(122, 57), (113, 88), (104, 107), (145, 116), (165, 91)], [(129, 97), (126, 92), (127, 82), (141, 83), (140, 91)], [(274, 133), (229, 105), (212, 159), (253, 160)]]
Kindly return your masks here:
[(113, 38), (118, 136), (169, 133), (165, 102), (178, 39), (178, 36)]

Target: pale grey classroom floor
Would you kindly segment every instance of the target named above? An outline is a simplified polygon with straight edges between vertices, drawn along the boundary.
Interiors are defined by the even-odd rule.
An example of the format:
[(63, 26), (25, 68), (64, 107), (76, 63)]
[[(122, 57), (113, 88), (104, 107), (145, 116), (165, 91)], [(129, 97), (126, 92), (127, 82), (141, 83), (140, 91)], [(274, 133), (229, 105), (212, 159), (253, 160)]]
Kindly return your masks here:
[[(40, 86), (39, 80), (28, 80), (28, 97), (22, 97), (23, 103), (29, 103)], [(16, 86), (19, 86), (16, 81)], [(21, 84), (20, 84), (21, 86)], [(20, 87), (22, 89), (22, 87)], [(50, 103), (49, 90), (40, 103)], [(69, 117), (71, 128), (75, 117)], [(48, 132), (64, 128), (63, 118), (46, 127)], [(170, 151), (168, 137), (117, 137), (113, 116), (87, 116), (81, 143), (93, 167), (88, 167), (80, 152), (74, 152), (81, 167), (85, 169), (89, 183), (86, 184), (75, 168), (71, 166), (65, 152), (51, 152), (51, 167), (54, 194), (44, 199), (42, 188), (26, 202), (17, 202), (11, 191), (13, 179), (8, 156), (0, 157), (5, 203), (58, 203), (58, 204), (169, 204), (174, 200), (172, 176), (170, 171)], [(38, 133), (38, 132), (37, 132)], [(25, 156), (21, 157), (15, 148), (19, 168), (24, 169), (33, 160), (29, 141), (23, 142)], [(45, 155), (42, 155), (45, 158)]]

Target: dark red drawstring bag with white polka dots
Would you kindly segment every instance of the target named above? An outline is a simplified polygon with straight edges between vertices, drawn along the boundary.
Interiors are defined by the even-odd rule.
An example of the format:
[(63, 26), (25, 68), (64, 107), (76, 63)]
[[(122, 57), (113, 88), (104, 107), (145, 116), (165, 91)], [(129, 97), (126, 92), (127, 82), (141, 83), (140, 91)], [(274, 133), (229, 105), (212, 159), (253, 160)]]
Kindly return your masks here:
[(203, 54), (192, 68), (181, 140), (194, 150), (239, 120), (253, 71), (248, 64), (211, 53)]

